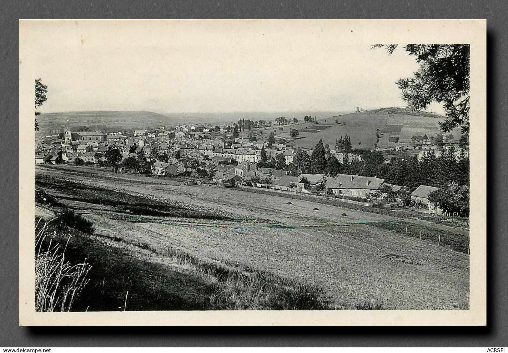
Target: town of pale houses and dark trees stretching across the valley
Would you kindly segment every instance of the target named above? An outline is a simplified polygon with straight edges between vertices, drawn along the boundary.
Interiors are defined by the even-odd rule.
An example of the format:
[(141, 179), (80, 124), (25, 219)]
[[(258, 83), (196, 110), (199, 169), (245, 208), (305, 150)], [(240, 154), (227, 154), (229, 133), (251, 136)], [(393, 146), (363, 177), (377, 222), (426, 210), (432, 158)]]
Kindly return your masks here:
[[(315, 117), (303, 120), (319, 124)], [(415, 135), (412, 145), (397, 140), (391, 147), (370, 150), (353, 149), (351, 137), (345, 134), (337, 136), (334, 146), (320, 140), (315, 148), (307, 149), (296, 147), (297, 122), (285, 117), (273, 125), (240, 119), (232, 124), (108, 133), (66, 128), (36, 140), (35, 163), (88, 165), (156, 178), (185, 178), (188, 183), (468, 216), (467, 139)], [(287, 124), (295, 124), (290, 138), (265, 131)], [(376, 136), (379, 141), (378, 131)]]

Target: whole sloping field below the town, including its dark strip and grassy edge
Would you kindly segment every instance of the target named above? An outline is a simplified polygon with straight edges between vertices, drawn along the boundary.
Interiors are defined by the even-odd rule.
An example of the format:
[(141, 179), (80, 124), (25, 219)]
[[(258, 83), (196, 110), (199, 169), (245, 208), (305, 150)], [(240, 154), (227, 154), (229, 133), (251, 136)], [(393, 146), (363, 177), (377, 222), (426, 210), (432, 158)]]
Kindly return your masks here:
[[(36, 167), (36, 186), (96, 229), (74, 240), (73, 249), (95, 266), (90, 288), (96, 293), (83, 297), (79, 310), (94, 310), (97, 296), (107, 297), (108, 308), (120, 307), (127, 290), (138, 298), (131, 310), (291, 307), (291, 300), (270, 300), (267, 293), (242, 297), (262, 301), (239, 300), (238, 293), (250, 293), (245, 278), (234, 280), (239, 274), (251, 282), (262, 278), (272, 289), (293, 288), (289, 292), (301, 298), (319, 293), (310, 301), (313, 308), (468, 308), (469, 257), (432, 239), (359, 224), (386, 224), (395, 219), (391, 215), (175, 184), (91, 168)], [(425, 229), (455, 229), (425, 222)], [(213, 282), (203, 270), (210, 266), (234, 276)], [(217, 296), (217, 286), (229, 288), (223, 290), (228, 298)]]

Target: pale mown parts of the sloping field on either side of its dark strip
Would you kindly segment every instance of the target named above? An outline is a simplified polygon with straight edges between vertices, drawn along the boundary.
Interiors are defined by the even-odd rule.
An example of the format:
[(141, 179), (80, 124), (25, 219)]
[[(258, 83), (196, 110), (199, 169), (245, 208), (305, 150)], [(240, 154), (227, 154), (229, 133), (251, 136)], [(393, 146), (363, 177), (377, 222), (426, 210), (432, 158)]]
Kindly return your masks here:
[[(52, 168), (37, 170), (41, 174), (41, 170)], [(61, 177), (60, 173), (44, 174)], [(386, 215), (310, 201), (291, 199), (294, 204), (287, 205), (289, 200), (281, 197), (267, 198), (228, 189), (178, 187), (152, 180), (140, 185), (139, 181), (131, 183), (91, 173), (67, 174), (66, 178), (165, 202), (186, 202), (191, 209), (205, 206), (237, 214), (239, 219), (250, 215), (281, 225), (390, 219)], [(243, 221), (182, 222), (167, 217), (114, 214), (101, 211), (102, 205), (67, 202), (85, 212), (105, 237), (143, 242), (154, 249), (164, 249), (170, 244), (199, 258), (239, 263), (323, 286), (339, 308), (355, 308), (363, 300), (382, 302), (390, 309), (468, 306), (468, 256), (415, 238), (404, 238), (395, 231), (370, 225), (287, 229)], [(314, 207), (319, 211), (313, 211)], [(343, 212), (347, 216), (340, 216)]]

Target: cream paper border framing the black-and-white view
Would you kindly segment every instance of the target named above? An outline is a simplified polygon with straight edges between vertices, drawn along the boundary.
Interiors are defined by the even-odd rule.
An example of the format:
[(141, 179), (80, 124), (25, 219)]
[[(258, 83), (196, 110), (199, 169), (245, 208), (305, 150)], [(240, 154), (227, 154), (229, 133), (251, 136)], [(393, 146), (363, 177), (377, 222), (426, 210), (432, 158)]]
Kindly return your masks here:
[[(376, 43), (469, 43), (470, 47), (470, 308), (469, 310), (343, 310), (343, 311), (137, 311), (36, 312), (34, 298), (34, 80), (25, 53), (44, 50), (24, 35), (35, 22), (19, 21), (19, 324), (42, 325), (345, 325), (345, 326), (485, 326), (487, 322), (486, 271), (486, 20), (78, 20), (195, 21), (196, 25), (262, 21), (263, 25), (295, 26), (311, 22), (342, 34), (341, 45)], [(64, 21), (64, 20), (54, 20)], [(76, 21), (76, 20), (69, 20)], [(395, 83), (394, 83), (395, 84)]]

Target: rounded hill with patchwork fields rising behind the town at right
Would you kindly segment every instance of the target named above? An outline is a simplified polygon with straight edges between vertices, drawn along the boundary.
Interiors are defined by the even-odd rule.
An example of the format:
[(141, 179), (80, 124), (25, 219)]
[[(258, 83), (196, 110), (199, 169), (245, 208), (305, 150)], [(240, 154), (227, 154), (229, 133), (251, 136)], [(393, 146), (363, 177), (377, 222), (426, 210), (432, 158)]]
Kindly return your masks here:
[[(358, 142), (361, 142), (362, 148), (373, 149), (376, 142), (376, 129), (379, 129), (381, 136), (378, 142), (379, 147), (395, 146), (397, 138), (399, 143), (412, 145), (411, 136), (413, 135), (427, 134), (430, 137), (441, 133), (438, 122), (443, 119), (442, 115), (435, 113), (391, 107), (330, 115), (326, 119), (318, 119), (317, 126), (307, 123), (297, 126), (282, 126), (282, 130), (279, 130), (279, 126), (274, 126), (263, 131), (263, 136), (267, 137), (273, 131), (275, 135), (290, 138), (290, 130), (296, 128), (300, 133), (300, 138), (296, 140), (298, 147), (314, 148), (316, 143), (323, 139), (323, 143), (328, 143), (333, 149), (335, 140), (347, 134), (351, 137), (353, 148), (359, 148)], [(335, 120), (338, 121), (338, 124), (335, 123)], [(453, 135), (455, 139), (458, 139), (460, 132), (455, 131)]]

